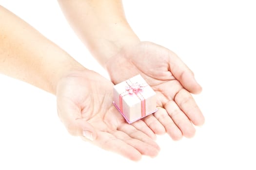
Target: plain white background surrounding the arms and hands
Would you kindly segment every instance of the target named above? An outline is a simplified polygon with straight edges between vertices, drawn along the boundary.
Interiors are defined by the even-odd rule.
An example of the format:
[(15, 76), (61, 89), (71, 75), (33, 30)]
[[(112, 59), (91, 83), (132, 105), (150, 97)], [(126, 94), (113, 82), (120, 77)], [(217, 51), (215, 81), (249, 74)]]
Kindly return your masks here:
[[(205, 125), (192, 139), (158, 136), (156, 158), (132, 162), (70, 136), (55, 96), (0, 75), (0, 170), (256, 170), (256, 5), (254, 0), (124, 0), (141, 40), (175, 51), (195, 72)], [(0, 4), (85, 67), (106, 72), (73, 33), (55, 0)], [(171, 87), (170, 87), (171, 88)]]

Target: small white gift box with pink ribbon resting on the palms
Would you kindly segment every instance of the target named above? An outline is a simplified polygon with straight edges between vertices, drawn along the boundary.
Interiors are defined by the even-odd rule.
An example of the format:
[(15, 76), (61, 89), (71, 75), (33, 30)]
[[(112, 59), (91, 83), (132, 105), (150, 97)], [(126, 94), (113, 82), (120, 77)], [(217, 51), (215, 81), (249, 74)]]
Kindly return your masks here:
[(114, 86), (113, 103), (128, 123), (157, 111), (156, 92), (140, 75)]

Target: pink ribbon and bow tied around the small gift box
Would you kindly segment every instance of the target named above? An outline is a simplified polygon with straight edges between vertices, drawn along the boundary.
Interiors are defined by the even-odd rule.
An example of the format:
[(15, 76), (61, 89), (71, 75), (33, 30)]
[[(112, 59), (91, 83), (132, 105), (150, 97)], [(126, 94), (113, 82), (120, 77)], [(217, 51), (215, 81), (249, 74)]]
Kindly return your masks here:
[[(131, 81), (130, 81), (131, 82)], [(140, 92), (142, 92), (144, 86), (140, 85), (138, 83), (134, 83), (129, 85), (128, 82), (126, 82), (127, 86), (125, 86), (125, 92), (121, 93), (119, 95), (119, 109), (123, 113), (123, 100), (122, 98), (126, 96), (127, 94), (133, 95), (135, 94), (138, 99), (141, 101), (141, 117), (144, 117), (146, 115), (146, 102), (144, 97)]]

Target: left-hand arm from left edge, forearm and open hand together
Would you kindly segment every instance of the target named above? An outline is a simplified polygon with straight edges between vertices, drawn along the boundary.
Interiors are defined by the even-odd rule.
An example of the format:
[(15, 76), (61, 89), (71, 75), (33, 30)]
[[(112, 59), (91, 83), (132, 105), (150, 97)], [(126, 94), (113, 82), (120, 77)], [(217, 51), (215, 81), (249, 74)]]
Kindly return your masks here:
[(147, 126), (127, 124), (113, 106), (110, 81), (1, 6), (0, 73), (56, 95), (59, 118), (71, 135), (135, 161), (158, 154), (157, 143), (144, 133)]

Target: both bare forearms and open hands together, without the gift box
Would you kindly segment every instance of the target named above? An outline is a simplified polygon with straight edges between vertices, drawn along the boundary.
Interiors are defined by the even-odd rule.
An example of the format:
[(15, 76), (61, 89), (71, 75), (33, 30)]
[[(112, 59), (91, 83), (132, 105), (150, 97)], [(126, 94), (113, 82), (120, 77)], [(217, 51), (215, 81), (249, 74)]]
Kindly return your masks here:
[(175, 53), (140, 42), (119, 0), (59, 4), (112, 82), (141, 74), (158, 94), (158, 112), (127, 124), (112, 104), (113, 83), (0, 6), (1, 73), (56, 95), (59, 118), (70, 134), (131, 160), (158, 154), (155, 134), (167, 132), (175, 140), (194, 136), (193, 124), (203, 124), (204, 118), (190, 92), (199, 93), (201, 87)]

